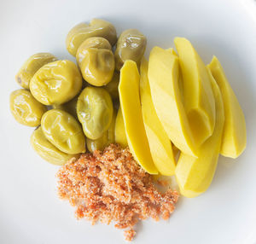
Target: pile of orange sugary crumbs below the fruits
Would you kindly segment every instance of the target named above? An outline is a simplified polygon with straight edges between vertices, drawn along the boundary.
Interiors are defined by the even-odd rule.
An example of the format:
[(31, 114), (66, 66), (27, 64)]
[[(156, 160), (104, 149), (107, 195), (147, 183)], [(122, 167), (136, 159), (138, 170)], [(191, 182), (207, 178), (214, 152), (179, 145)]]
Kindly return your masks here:
[(133, 159), (128, 148), (110, 145), (103, 152), (82, 154), (57, 173), (58, 193), (76, 207), (77, 218), (86, 218), (125, 230), (125, 240), (136, 235), (141, 219), (167, 219), (174, 210), (178, 193), (160, 193), (152, 177)]

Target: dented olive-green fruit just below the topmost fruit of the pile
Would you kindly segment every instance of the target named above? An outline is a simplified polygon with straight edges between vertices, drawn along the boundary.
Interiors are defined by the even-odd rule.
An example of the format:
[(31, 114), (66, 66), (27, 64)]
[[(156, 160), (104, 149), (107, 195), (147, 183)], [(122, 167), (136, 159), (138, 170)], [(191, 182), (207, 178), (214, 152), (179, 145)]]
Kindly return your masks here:
[[(79, 54), (78, 54), (79, 55)], [(108, 84), (113, 78), (114, 56), (109, 49), (84, 49), (84, 59), (79, 60), (83, 78), (92, 85)]]

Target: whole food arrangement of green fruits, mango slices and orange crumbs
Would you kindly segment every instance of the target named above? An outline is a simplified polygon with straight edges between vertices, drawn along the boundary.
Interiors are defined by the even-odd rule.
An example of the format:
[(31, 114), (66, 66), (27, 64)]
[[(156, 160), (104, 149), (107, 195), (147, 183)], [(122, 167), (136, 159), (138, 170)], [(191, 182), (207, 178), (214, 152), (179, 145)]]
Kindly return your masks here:
[[(106, 20), (81, 23), (66, 39), (77, 64), (32, 55), (10, 95), (14, 118), (37, 127), (32, 148), (61, 166), (60, 198), (77, 218), (113, 221), (127, 241), (139, 220), (169, 218), (179, 195), (204, 193), (218, 155), (236, 159), (247, 142), (217, 57), (206, 66), (188, 39), (175, 38), (177, 51), (156, 46), (147, 61), (146, 44), (136, 29), (118, 38)], [(178, 188), (161, 176), (175, 176)]]

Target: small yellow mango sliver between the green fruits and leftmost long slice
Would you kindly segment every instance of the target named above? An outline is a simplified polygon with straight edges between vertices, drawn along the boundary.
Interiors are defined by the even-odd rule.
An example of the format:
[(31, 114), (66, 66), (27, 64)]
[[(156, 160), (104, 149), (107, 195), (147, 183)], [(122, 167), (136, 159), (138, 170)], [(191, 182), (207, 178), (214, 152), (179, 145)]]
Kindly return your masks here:
[(125, 124), (121, 107), (119, 107), (119, 111), (117, 113), (115, 120), (114, 138), (115, 142), (119, 143), (122, 148), (128, 147), (128, 142), (125, 134)]

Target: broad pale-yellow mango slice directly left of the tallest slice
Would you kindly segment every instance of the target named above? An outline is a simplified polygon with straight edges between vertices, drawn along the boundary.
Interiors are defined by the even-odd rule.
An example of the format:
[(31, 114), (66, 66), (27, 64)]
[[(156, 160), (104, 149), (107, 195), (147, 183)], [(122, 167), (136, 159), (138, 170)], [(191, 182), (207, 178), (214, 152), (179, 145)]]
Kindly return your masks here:
[(177, 55), (154, 47), (148, 61), (148, 81), (155, 111), (168, 137), (184, 154), (195, 155), (195, 142), (179, 90)]

